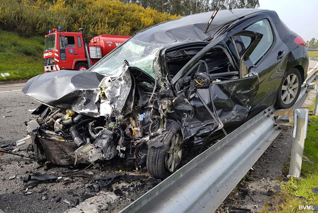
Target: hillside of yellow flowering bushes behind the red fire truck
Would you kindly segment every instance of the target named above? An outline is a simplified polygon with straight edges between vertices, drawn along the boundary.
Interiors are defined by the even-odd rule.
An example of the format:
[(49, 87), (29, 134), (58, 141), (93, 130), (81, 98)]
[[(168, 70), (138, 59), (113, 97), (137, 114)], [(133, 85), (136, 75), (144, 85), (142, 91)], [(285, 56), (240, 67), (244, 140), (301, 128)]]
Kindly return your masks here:
[(67, 31), (85, 28), (98, 34), (133, 35), (179, 16), (119, 0), (1, 0), (0, 29), (24, 36), (46, 35), (59, 25)]

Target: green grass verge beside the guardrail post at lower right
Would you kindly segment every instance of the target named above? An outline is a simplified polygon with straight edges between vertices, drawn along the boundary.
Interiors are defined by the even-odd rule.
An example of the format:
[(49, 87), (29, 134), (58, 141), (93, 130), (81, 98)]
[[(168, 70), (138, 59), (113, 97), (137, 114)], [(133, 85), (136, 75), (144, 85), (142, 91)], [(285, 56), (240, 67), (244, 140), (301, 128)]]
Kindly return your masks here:
[(318, 116), (310, 116), (304, 156), (301, 178), (291, 177), (283, 183), (282, 192), (275, 195), (279, 199), (273, 198), (260, 213), (313, 213), (299, 210), (299, 206), (318, 205), (318, 194), (312, 191), (318, 188)]

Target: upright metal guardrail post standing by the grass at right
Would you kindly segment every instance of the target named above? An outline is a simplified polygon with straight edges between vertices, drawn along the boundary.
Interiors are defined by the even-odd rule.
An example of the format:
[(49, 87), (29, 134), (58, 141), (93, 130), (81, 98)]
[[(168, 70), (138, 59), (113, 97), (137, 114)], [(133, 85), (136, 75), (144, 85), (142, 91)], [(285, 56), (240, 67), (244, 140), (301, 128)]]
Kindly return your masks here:
[(290, 159), (289, 177), (300, 177), (303, 162), (304, 144), (307, 133), (308, 109), (294, 110), (293, 148)]

